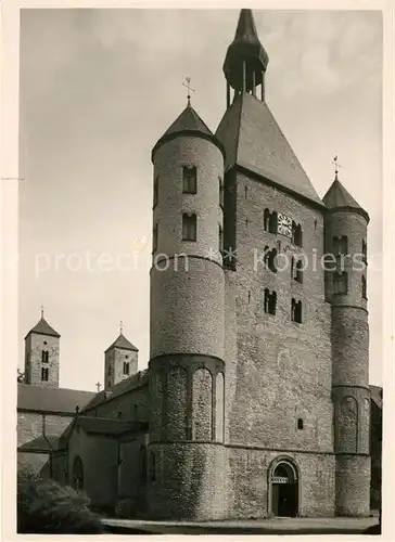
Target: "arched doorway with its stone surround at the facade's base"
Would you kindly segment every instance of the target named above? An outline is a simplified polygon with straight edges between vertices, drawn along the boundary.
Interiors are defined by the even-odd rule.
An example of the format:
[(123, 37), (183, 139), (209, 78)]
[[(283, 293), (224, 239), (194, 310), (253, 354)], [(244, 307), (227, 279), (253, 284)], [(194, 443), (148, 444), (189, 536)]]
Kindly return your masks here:
[(291, 457), (276, 457), (268, 468), (268, 514), (279, 517), (300, 515), (301, 479)]

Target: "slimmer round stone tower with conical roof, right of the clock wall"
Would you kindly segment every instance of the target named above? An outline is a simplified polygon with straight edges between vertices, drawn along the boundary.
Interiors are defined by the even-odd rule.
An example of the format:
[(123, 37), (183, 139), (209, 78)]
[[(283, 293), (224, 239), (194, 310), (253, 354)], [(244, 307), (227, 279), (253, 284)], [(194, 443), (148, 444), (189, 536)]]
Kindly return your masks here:
[(370, 389), (367, 311), (368, 214), (337, 180), (323, 197), (326, 295), (332, 305), (335, 511), (369, 514)]

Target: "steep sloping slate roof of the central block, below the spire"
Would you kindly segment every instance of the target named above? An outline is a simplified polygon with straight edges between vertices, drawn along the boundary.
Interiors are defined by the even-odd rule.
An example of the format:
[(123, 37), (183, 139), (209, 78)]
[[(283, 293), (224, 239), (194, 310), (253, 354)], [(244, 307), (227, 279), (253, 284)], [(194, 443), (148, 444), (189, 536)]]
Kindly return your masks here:
[(226, 111), (216, 136), (226, 150), (226, 170), (242, 166), (323, 207), (265, 102), (240, 94)]

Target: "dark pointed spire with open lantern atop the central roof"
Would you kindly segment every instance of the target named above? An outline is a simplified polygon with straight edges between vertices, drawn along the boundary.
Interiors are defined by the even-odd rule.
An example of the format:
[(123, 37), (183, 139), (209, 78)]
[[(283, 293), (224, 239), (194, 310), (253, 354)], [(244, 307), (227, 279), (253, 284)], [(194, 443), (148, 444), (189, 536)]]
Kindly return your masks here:
[(260, 98), (264, 101), (268, 62), (269, 56), (259, 41), (252, 10), (241, 10), (235, 36), (224, 63), (228, 107), (230, 88), (234, 90), (234, 98), (242, 92), (256, 95), (256, 87), (260, 85)]

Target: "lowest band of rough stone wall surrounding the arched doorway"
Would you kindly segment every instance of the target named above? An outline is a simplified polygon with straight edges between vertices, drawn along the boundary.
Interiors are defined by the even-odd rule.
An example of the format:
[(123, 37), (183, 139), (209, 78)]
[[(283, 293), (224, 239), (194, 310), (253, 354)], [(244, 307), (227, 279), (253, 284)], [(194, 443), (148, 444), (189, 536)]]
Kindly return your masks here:
[(334, 456), (280, 451), (229, 448), (230, 487), (228, 516), (231, 518), (266, 518), (272, 515), (270, 465), (286, 459), (298, 473), (298, 515), (333, 516)]

